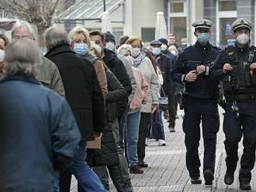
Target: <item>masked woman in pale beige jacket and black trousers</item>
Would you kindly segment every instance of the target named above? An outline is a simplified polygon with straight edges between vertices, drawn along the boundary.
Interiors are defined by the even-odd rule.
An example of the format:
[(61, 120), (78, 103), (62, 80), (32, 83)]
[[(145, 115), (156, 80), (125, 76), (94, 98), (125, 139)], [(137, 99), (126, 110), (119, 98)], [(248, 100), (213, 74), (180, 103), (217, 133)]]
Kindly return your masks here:
[(158, 107), (158, 92), (160, 89), (157, 74), (154, 70), (153, 64), (142, 50), (142, 41), (140, 38), (132, 36), (127, 39), (126, 44), (129, 44), (132, 48), (130, 50), (133, 58), (133, 67), (140, 69), (142, 74), (149, 84), (147, 104), (142, 105), (140, 116), (140, 128), (139, 128), (139, 140), (137, 146), (138, 166), (147, 167), (147, 163), (144, 162), (146, 137), (148, 134), (148, 125), (150, 123), (150, 116)]

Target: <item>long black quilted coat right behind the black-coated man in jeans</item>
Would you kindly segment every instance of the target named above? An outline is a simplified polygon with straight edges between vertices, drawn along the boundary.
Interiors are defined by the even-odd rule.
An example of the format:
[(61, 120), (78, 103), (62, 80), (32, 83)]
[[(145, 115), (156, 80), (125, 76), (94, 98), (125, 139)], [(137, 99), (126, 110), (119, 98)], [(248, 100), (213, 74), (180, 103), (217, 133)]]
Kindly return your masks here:
[(116, 102), (127, 97), (123, 85), (115, 75), (106, 70), (109, 92), (106, 94), (106, 126), (102, 135), (102, 148), (95, 149), (94, 166), (113, 166), (119, 164), (117, 144), (112, 133), (112, 120), (116, 117)]

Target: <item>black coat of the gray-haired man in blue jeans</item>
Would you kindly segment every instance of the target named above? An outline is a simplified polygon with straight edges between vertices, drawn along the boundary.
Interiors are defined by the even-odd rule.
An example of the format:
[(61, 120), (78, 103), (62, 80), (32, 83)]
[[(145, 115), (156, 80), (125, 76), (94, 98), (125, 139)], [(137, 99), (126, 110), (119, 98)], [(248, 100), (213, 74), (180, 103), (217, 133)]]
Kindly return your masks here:
[(57, 46), (45, 57), (56, 63), (60, 70), (67, 102), (82, 138), (94, 140), (93, 133), (102, 132), (105, 125), (105, 101), (92, 63), (78, 57), (69, 45)]

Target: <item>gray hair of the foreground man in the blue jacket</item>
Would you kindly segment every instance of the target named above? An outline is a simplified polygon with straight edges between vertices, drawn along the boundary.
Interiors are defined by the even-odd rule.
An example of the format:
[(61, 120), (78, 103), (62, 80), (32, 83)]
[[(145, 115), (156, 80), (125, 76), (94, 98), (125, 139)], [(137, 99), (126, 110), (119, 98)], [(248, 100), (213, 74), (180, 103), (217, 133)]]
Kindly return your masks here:
[(5, 49), (6, 76), (23, 74), (35, 76), (42, 63), (40, 48), (33, 39), (20, 39), (9, 43)]

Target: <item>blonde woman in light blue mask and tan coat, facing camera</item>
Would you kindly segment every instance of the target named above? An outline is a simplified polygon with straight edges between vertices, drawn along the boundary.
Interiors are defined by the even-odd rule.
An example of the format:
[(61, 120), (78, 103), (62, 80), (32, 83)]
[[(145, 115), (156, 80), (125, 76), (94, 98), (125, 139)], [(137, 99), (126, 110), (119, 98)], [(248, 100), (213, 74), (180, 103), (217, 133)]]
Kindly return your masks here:
[(99, 80), (99, 84), (102, 87), (102, 92), (103, 94), (106, 94), (108, 89), (104, 64), (102, 60), (95, 57), (94, 51), (92, 51), (92, 43), (88, 30), (82, 26), (76, 26), (71, 30), (70, 33), (68, 33), (68, 37), (71, 42), (71, 48), (74, 50), (74, 52), (92, 62)]

